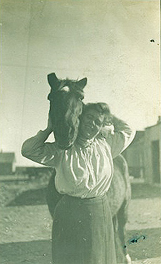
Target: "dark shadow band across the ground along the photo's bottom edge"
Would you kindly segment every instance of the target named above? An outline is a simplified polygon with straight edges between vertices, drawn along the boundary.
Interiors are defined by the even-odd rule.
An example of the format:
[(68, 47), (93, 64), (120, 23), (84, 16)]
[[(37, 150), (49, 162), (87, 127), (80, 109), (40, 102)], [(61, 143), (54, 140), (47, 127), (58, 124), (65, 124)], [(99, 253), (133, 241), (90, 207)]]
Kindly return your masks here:
[[(136, 236), (145, 236), (146, 239), (129, 243)], [(128, 231), (126, 238), (128, 253), (133, 260), (157, 258), (160, 256), (160, 238), (160, 228)], [(51, 241), (5, 243), (1, 244), (0, 252), (3, 264), (51, 264)]]

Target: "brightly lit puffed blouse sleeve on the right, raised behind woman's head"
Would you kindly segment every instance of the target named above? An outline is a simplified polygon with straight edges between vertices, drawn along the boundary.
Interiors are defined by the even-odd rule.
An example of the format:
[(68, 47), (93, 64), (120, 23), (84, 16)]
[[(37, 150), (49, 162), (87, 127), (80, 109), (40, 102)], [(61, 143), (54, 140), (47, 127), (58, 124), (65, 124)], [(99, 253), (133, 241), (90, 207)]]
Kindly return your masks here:
[(122, 120), (122, 125), (118, 127), (114, 126), (113, 132), (108, 129), (108, 127), (103, 127), (102, 135), (105, 137), (106, 142), (110, 145), (112, 157), (117, 157), (121, 152), (123, 152), (133, 141), (135, 137), (135, 130), (130, 128), (129, 125), (125, 124)]

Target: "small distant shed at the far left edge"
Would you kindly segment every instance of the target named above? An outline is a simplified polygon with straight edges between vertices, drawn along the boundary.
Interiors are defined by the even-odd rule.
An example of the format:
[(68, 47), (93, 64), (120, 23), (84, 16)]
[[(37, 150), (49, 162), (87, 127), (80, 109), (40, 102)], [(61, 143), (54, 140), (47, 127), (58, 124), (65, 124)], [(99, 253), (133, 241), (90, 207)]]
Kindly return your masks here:
[(12, 174), (16, 168), (15, 162), (14, 152), (0, 152), (0, 175)]

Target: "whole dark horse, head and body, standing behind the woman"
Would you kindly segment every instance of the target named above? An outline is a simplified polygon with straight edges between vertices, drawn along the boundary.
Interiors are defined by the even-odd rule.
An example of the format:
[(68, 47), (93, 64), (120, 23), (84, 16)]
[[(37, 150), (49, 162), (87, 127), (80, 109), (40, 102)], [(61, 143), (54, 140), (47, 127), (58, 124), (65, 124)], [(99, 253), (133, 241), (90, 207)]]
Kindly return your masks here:
[[(71, 147), (78, 134), (78, 117), (83, 107), (83, 88), (87, 79), (80, 81), (59, 80), (55, 73), (48, 75), (48, 83), (51, 85), (50, 115), (53, 124), (53, 132), (56, 143), (61, 149)], [(128, 164), (122, 155), (113, 159), (113, 181), (108, 191), (113, 226), (115, 231), (115, 245), (118, 263), (126, 263), (125, 250), (125, 223), (128, 220), (128, 204), (130, 201), (130, 181)], [(62, 195), (55, 187), (56, 170), (54, 169), (47, 190), (47, 204), (51, 216), (56, 204)]]

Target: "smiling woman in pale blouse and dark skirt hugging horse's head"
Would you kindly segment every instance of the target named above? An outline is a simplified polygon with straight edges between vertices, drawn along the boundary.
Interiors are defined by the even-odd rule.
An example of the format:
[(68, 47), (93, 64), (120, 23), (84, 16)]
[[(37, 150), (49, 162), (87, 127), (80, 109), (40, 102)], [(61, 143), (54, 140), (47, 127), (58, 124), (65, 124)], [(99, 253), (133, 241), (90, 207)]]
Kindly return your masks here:
[[(113, 124), (109, 133), (107, 125)], [(106, 128), (105, 128), (106, 126)], [(56, 264), (115, 264), (113, 223), (105, 193), (113, 177), (113, 157), (133, 139), (125, 122), (110, 115), (105, 103), (83, 107), (79, 132), (71, 149), (45, 143), (46, 130), (24, 142), (24, 157), (56, 168), (62, 196), (53, 215), (52, 250)]]

